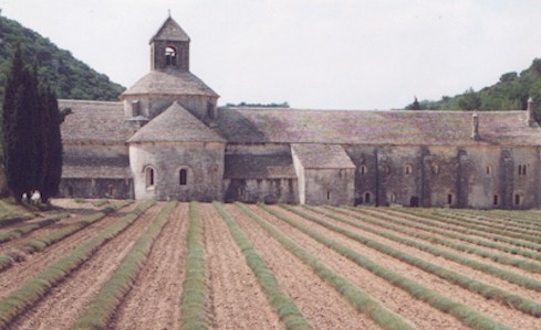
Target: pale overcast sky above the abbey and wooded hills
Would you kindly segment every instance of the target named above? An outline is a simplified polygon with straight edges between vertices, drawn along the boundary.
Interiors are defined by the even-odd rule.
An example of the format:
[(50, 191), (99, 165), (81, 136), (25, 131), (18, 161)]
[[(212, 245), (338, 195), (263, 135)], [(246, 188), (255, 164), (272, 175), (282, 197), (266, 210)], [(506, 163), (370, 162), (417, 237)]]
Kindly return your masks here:
[(167, 18), (190, 35), (190, 70), (219, 103), (403, 108), (478, 91), (541, 57), (539, 0), (0, 0), (126, 87), (149, 71)]

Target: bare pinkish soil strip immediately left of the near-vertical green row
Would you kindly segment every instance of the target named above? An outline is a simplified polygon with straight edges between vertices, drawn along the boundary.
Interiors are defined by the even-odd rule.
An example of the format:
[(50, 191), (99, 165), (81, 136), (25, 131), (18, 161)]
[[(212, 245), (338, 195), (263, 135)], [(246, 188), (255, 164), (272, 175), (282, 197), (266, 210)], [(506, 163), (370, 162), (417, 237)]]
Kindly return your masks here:
[(110, 329), (178, 329), (186, 262), (188, 204), (170, 214), (154, 242), (147, 264), (116, 312)]

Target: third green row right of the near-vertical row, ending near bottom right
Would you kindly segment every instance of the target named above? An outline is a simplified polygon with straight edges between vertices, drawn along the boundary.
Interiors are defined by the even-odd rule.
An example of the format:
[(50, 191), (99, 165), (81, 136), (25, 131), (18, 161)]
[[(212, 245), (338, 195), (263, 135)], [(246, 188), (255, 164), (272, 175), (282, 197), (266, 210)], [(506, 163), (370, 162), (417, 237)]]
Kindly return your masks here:
[(456, 319), (458, 319), (460, 322), (462, 322), (468, 327), (471, 327), (474, 329), (479, 329), (479, 330), (511, 329), (510, 327), (501, 324), (498, 321), (478, 312), (477, 310), (470, 308), (469, 306), (457, 302), (448, 297), (441, 296), (438, 292), (435, 292), (429, 288), (406, 278), (405, 276), (402, 276), (383, 266), (379, 266), (378, 264), (362, 256), (355, 251), (347, 248), (343, 245), (340, 245), (336, 242), (325, 237), (324, 235), (321, 235), (315, 231), (312, 231), (305, 226), (300, 225), (299, 223), (285, 216), (283, 213), (271, 210), (267, 206), (264, 206), (264, 210), (267, 210), (267, 212), (273, 214), (278, 219), (300, 230), (301, 232), (305, 233), (306, 235), (320, 242), (321, 244), (336, 251), (344, 257), (353, 260), (354, 263), (367, 269), (368, 272), (373, 273), (374, 275), (405, 290), (412, 297), (419, 299), (424, 302), (427, 302), (428, 305), (433, 306), (434, 308), (443, 312), (447, 312), (451, 315), (452, 317), (455, 317)]

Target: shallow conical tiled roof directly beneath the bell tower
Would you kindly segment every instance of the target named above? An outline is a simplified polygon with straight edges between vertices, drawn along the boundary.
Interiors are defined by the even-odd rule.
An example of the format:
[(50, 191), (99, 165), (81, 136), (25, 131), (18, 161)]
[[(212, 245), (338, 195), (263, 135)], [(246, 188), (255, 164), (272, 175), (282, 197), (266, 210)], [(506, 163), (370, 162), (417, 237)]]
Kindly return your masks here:
[(218, 97), (201, 79), (187, 71), (152, 71), (121, 95), (206, 95)]

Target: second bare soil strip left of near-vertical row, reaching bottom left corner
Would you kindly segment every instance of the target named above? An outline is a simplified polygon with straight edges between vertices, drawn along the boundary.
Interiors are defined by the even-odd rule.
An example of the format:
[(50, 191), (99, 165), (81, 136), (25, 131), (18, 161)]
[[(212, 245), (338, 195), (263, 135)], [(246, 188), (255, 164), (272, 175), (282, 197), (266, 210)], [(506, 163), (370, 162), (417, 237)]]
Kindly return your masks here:
[(21, 316), (12, 329), (69, 329), (163, 206), (163, 203), (152, 206), (123, 233), (106, 243), (81, 268)]

